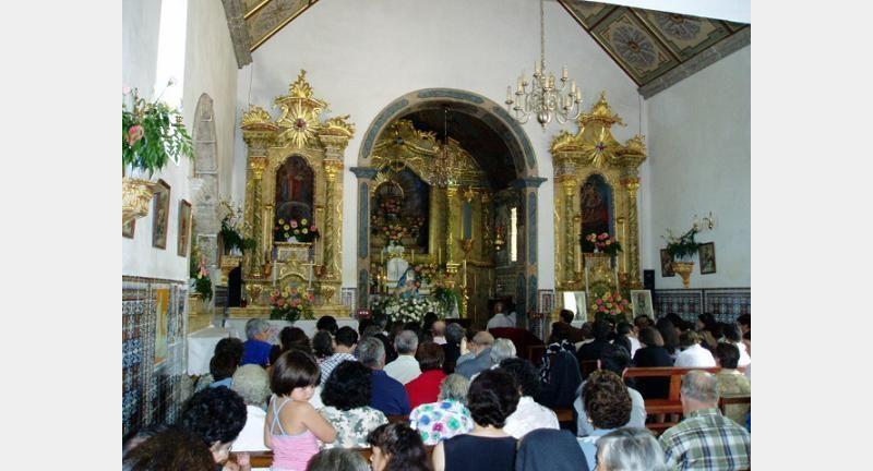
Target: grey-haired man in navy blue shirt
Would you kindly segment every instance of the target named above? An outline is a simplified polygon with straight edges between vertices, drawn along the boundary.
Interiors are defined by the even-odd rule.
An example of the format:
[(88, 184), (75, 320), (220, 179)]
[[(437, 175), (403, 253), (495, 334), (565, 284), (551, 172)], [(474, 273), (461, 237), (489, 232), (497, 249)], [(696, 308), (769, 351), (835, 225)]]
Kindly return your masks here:
[(379, 339), (368, 337), (358, 343), (358, 360), (372, 370), (373, 397), (370, 407), (385, 415), (406, 415), (411, 411), (406, 388), (397, 379), (385, 374), (385, 347)]

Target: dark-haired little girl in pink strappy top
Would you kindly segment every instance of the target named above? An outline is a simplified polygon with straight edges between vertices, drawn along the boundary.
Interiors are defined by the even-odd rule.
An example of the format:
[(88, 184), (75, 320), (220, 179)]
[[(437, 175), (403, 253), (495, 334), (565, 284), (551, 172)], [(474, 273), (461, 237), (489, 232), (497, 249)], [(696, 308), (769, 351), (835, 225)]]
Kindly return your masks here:
[(306, 469), (319, 452), (319, 440), (331, 444), (336, 431), (309, 403), (321, 379), (310, 354), (291, 349), (273, 366), (270, 388), (275, 396), (267, 407), (264, 444), (273, 450), (274, 469)]

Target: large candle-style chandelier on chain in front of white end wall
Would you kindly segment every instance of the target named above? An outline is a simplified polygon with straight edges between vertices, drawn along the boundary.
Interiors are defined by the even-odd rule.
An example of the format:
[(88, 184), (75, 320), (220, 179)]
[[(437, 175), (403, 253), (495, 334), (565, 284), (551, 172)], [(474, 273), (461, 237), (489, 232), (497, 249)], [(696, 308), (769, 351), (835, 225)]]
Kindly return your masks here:
[[(561, 84), (555, 86), (554, 74), (546, 70), (546, 20), (542, 8), (543, 0), (539, 1), (539, 31), (540, 31), (540, 58), (534, 63), (534, 78), (527, 80), (524, 71), (518, 76), (518, 89), (513, 99), (512, 86), (506, 87), (506, 110), (519, 123), (524, 124), (530, 114), (537, 116), (542, 129), (546, 129), (552, 119), (563, 124), (567, 120), (575, 120), (582, 113), (582, 90), (576, 88), (576, 81), (570, 81), (566, 67), (561, 73)], [(569, 90), (566, 83), (570, 81)], [(527, 86), (530, 85), (530, 89)]]

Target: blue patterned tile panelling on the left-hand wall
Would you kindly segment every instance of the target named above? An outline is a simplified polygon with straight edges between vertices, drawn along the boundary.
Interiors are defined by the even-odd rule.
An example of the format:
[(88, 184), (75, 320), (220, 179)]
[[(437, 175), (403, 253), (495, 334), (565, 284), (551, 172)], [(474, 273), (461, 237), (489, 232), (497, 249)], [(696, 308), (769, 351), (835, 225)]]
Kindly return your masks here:
[(182, 281), (122, 277), (122, 434), (174, 423), (187, 399), (186, 300)]

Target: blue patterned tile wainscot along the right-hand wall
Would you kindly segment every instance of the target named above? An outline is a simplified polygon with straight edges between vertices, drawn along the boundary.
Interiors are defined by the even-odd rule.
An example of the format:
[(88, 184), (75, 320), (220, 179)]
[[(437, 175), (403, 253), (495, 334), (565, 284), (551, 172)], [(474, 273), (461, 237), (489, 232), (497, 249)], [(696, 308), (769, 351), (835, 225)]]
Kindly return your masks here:
[(752, 313), (751, 288), (670, 289), (653, 292), (655, 314), (679, 314), (695, 321), (698, 314), (713, 314), (718, 322), (734, 322)]

